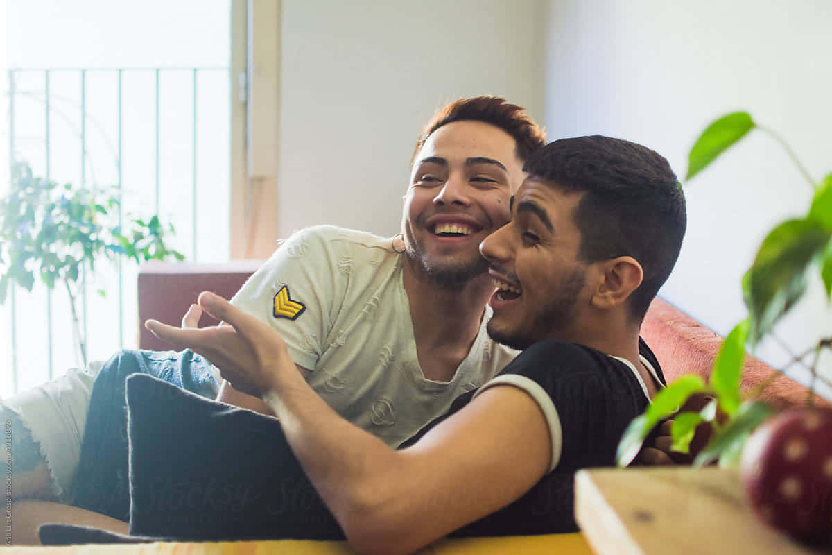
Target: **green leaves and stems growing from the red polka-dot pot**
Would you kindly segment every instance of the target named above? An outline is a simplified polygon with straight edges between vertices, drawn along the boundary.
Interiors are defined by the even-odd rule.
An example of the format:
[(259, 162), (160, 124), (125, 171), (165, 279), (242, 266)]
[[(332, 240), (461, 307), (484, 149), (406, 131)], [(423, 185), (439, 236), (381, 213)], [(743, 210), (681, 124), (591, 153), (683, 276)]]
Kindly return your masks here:
[[(809, 209), (805, 216), (775, 225), (765, 236), (753, 265), (742, 279), (748, 316), (728, 334), (714, 362), (709, 383), (696, 375), (684, 375), (657, 394), (645, 414), (634, 420), (622, 437), (617, 453), (620, 466), (630, 463), (651, 429), (676, 414), (693, 394), (709, 394), (714, 399), (698, 412), (676, 414), (671, 427), (673, 449), (687, 453), (696, 427), (710, 423), (713, 434), (694, 463), (703, 465), (719, 460), (723, 465), (735, 464), (750, 432), (772, 414), (767, 404), (756, 399), (766, 384), (745, 399), (740, 394), (745, 349), (754, 349), (795, 306), (805, 293), (810, 272), (820, 271), (827, 300), (832, 297), (832, 173), (819, 182), (813, 181), (780, 136), (759, 126), (748, 113), (738, 111), (722, 116), (701, 133), (688, 157), (686, 181), (753, 130), (774, 136), (795, 161), (814, 191)], [(818, 355), (821, 349), (830, 347), (832, 338), (820, 339), (812, 349), (795, 357), (795, 361), (812, 355), (810, 369), (813, 379), (819, 379)], [(721, 418), (717, 419), (717, 414)]]

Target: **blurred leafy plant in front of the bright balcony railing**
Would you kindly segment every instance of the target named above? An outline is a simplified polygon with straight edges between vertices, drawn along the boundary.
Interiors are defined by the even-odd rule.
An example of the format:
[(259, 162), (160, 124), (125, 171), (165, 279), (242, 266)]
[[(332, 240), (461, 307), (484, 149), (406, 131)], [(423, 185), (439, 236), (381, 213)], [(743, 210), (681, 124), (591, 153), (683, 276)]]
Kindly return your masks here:
[[(34, 176), (22, 162), (12, 166), (11, 177), (10, 190), (0, 199), (0, 304), (12, 281), (29, 291), (36, 280), (50, 290), (62, 284), (86, 365), (86, 338), (77, 311), (83, 272), (94, 270), (102, 259), (183, 260), (181, 253), (166, 245), (173, 226), (162, 225), (157, 216), (147, 221), (128, 216), (127, 225), (121, 227), (115, 189), (58, 186)], [(98, 293), (105, 295), (103, 290)]]

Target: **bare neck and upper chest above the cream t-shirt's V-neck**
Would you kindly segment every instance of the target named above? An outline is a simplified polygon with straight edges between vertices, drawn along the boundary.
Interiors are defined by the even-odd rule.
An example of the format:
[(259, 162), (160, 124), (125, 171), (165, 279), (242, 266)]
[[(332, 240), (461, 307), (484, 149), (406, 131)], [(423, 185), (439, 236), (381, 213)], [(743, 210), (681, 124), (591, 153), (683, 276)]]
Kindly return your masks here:
[(457, 289), (446, 289), (420, 275), (404, 261), (404, 290), (408, 294), (414, 338), (419, 345), (469, 348), (479, 332), (483, 311), (493, 293), (488, 274)]

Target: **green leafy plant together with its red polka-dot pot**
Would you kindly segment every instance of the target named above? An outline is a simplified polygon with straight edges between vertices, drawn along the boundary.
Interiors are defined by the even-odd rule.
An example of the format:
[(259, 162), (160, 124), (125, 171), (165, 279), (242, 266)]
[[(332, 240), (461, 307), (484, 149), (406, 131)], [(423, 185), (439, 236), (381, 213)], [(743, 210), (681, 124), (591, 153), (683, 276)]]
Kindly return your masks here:
[[(832, 539), (828, 524), (832, 518), (832, 498), (828, 498), (832, 496), (832, 412), (813, 412), (813, 405), (816, 380), (824, 379), (817, 374), (819, 355), (832, 348), (832, 338), (819, 339), (790, 363), (810, 359), (808, 409), (774, 416), (773, 409), (758, 399), (770, 380), (744, 396), (740, 377), (745, 350), (753, 351), (772, 334), (775, 324), (805, 294), (810, 273), (820, 272), (827, 302), (832, 298), (832, 173), (813, 181), (780, 136), (739, 111), (722, 116), (701, 133), (689, 154), (686, 181), (754, 130), (773, 136), (785, 148), (812, 188), (810, 206), (805, 216), (775, 225), (760, 244), (741, 283), (748, 315), (722, 344), (708, 383), (698, 375), (683, 375), (656, 394), (645, 414), (626, 429), (617, 463), (631, 463), (647, 434), (667, 418), (673, 418), (671, 449), (681, 453), (689, 452), (697, 428), (704, 425), (710, 428), (710, 437), (696, 453), (695, 465), (718, 461), (721, 466), (736, 467), (741, 458), (740, 478), (760, 518), (796, 538), (826, 541)], [(678, 412), (695, 394), (710, 395), (712, 400), (696, 412)], [(743, 453), (749, 437), (754, 441)], [(808, 443), (809, 437), (815, 438), (813, 444)]]

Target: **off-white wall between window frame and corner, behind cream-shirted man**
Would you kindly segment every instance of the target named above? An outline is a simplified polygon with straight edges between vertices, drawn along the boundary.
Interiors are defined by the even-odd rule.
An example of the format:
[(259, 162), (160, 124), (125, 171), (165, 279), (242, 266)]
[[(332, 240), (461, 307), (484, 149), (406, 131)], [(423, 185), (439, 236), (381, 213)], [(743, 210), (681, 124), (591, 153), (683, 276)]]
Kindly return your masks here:
[(542, 117), (538, 0), (283, 0), (280, 235), (399, 231), (433, 112), (492, 94)]

